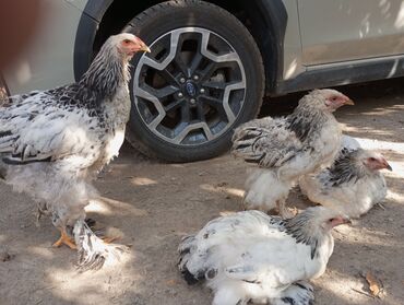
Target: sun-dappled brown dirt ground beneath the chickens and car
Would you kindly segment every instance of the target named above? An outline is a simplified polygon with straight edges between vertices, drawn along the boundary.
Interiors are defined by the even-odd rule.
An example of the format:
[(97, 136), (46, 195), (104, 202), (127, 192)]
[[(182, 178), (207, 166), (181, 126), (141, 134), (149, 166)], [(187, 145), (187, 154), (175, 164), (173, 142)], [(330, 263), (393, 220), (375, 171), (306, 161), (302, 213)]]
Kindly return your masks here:
[[(334, 232), (335, 249), (323, 277), (313, 281), (316, 304), (404, 304), (404, 86), (403, 79), (341, 87), (355, 102), (336, 117), (348, 134), (381, 150), (385, 210), (372, 209), (353, 226)], [(262, 115), (288, 113), (299, 94), (265, 104)], [(78, 273), (75, 253), (52, 248), (58, 232), (49, 220), (35, 224), (35, 204), (0, 184), (0, 304), (207, 305), (211, 292), (187, 286), (176, 269), (177, 245), (223, 211), (240, 209), (246, 166), (230, 155), (190, 164), (146, 160), (126, 145), (96, 185), (104, 199), (88, 207), (91, 218), (120, 232), (131, 250), (98, 272)], [(309, 204), (297, 190), (290, 206)], [(11, 257), (4, 256), (4, 251)], [(5, 260), (5, 261), (2, 261)], [(363, 277), (382, 283), (381, 298)]]

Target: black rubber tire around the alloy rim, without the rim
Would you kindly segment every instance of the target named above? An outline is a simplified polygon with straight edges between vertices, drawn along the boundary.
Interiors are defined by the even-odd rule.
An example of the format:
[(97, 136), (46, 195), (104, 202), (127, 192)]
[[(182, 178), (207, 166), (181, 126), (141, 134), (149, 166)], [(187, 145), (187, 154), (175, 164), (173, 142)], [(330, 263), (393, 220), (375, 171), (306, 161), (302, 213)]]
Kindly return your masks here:
[[(176, 145), (153, 133), (144, 124), (133, 103), (133, 81), (131, 81), (132, 109), (127, 132), (129, 142), (147, 155), (173, 162), (210, 159), (226, 151), (229, 148), (234, 128), (256, 117), (263, 95), (264, 72), (262, 59), (247, 28), (226, 11), (217, 10), (217, 7), (210, 3), (204, 5), (204, 2), (195, 2), (183, 1), (183, 3), (189, 3), (189, 5), (167, 5), (166, 8), (157, 4), (152, 8), (156, 9), (148, 9), (144, 12), (144, 15), (140, 14), (134, 17), (130, 22), (130, 26), (124, 28), (124, 32), (135, 34), (146, 44), (153, 43), (158, 37), (176, 28), (186, 26), (205, 28), (225, 38), (241, 59), (247, 82), (243, 106), (230, 128), (218, 138), (199, 145)], [(133, 58), (133, 67), (136, 67), (140, 58), (140, 56)], [(134, 70), (133, 68), (132, 73)]]

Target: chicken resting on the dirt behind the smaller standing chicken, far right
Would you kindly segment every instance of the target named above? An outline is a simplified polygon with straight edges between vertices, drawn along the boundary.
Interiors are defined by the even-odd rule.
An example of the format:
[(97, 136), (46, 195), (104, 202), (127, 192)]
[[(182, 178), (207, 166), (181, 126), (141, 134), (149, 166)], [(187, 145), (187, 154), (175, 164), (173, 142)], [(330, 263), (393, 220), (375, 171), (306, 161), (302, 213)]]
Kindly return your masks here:
[(392, 171), (380, 153), (343, 145), (331, 167), (300, 177), (299, 186), (311, 201), (359, 218), (385, 198), (383, 168)]

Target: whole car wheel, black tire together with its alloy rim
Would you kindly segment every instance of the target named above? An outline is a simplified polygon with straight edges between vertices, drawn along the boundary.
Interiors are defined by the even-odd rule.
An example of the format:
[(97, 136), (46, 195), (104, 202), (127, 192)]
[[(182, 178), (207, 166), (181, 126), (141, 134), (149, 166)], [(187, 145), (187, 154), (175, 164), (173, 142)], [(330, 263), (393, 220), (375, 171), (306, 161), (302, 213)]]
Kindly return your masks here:
[(132, 60), (129, 142), (170, 162), (226, 151), (262, 103), (262, 58), (248, 30), (214, 4), (183, 0), (147, 9), (123, 31), (152, 49)]

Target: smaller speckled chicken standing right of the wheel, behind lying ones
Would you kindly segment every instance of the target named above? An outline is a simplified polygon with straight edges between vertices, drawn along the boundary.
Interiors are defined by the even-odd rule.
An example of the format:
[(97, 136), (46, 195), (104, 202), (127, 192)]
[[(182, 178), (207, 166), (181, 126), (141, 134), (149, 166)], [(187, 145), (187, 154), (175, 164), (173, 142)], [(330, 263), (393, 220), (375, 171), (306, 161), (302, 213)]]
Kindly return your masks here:
[(270, 211), (282, 216), (289, 189), (305, 174), (328, 165), (341, 145), (341, 128), (332, 113), (354, 103), (335, 90), (314, 90), (304, 96), (285, 118), (262, 118), (237, 128), (233, 153), (258, 164), (246, 181), (247, 209)]

